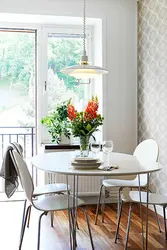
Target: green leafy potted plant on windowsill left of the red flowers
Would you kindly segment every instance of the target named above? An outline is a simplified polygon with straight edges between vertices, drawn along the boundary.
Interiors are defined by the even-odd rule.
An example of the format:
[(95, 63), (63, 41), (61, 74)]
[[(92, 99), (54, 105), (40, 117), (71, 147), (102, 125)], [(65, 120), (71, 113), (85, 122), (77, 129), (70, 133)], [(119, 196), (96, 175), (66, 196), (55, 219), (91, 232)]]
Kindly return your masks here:
[[(70, 122), (68, 118), (68, 102), (57, 105), (56, 110), (41, 119), (52, 137), (52, 142), (60, 144), (65, 138), (70, 139)], [(67, 143), (66, 143), (67, 144)]]

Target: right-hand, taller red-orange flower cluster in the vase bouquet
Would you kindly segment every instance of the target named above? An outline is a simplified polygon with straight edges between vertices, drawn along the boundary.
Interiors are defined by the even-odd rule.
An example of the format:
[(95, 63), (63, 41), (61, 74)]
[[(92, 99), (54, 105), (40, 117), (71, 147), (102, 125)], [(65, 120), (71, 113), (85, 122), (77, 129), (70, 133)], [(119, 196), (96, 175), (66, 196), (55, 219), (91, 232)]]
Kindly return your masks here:
[(98, 108), (99, 103), (97, 98), (92, 98), (92, 100), (88, 102), (88, 105), (85, 109), (85, 121), (95, 119), (97, 117)]

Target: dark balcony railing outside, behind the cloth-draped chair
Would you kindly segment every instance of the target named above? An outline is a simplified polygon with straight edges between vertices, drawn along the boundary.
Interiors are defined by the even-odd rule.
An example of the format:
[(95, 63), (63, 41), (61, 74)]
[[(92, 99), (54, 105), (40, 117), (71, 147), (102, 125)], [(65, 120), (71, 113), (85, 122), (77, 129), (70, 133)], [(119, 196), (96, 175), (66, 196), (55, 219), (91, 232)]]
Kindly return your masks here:
[[(35, 127), (0, 127), (0, 162), (9, 143), (18, 142), (23, 147), (23, 156), (30, 159), (35, 152)], [(34, 177), (34, 169), (28, 164), (29, 171)], [(21, 191), (19, 188), (18, 191)], [(4, 192), (4, 180), (0, 178), (0, 192)]]

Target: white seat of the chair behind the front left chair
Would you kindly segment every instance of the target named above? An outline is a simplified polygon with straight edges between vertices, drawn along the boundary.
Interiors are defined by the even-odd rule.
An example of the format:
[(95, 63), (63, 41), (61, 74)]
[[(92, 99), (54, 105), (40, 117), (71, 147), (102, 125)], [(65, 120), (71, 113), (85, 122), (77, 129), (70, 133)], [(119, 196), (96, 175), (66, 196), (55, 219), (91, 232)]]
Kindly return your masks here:
[[(68, 189), (70, 190), (70, 188)], [(67, 185), (64, 183), (54, 183), (37, 186), (34, 189), (33, 197), (44, 195), (44, 194), (54, 194), (54, 193), (67, 192)]]

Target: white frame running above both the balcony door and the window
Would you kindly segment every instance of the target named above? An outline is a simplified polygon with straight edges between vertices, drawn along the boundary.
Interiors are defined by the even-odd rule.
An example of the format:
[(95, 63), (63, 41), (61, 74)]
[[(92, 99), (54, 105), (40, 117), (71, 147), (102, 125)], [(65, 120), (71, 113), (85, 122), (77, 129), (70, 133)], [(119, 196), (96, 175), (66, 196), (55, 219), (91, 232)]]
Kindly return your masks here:
[[(18, 28), (18, 29), (34, 29), (37, 32), (37, 56), (36, 56), (36, 93), (35, 93), (35, 132), (36, 132), (36, 151), (38, 151), (38, 147), (42, 144), (50, 143), (48, 140), (44, 140), (44, 133), (46, 130), (44, 126), (41, 124), (40, 120), (47, 114), (47, 104), (44, 105), (44, 85), (45, 80), (47, 79), (47, 65), (44, 64), (44, 61), (47, 62), (47, 44), (46, 44), (46, 33), (47, 31), (55, 32), (59, 31), (64, 32), (68, 31), (72, 34), (83, 34), (83, 27), (82, 25), (57, 25), (57, 24), (42, 24), (42, 23), (13, 23), (13, 22), (0, 22), (1, 28)], [(89, 56), (89, 61), (93, 64), (94, 63), (94, 25), (90, 25), (86, 27), (86, 36), (87, 36), (87, 43), (88, 49), (87, 54)], [(62, 32), (62, 33), (63, 33)], [(46, 48), (44, 50), (44, 48)], [(45, 51), (45, 52), (44, 52)], [(104, 81), (104, 80), (102, 80)], [(101, 82), (101, 80), (100, 80)], [(92, 79), (90, 85), (90, 93), (91, 95), (98, 93), (97, 86), (95, 85), (95, 81)], [(43, 103), (43, 105), (41, 105)], [(102, 108), (102, 107), (101, 107)], [(45, 130), (45, 132), (44, 132)], [(45, 136), (46, 138), (46, 136)], [(100, 137), (102, 139), (102, 132)], [(101, 140), (100, 139), (100, 140)]]

